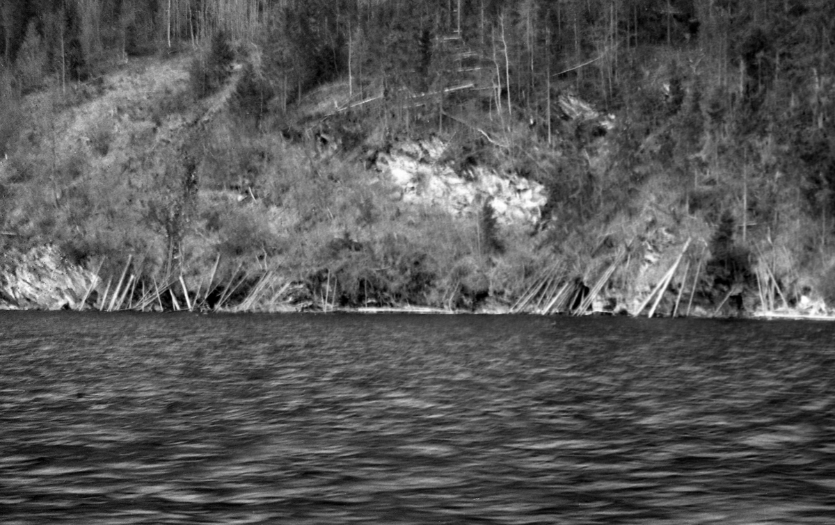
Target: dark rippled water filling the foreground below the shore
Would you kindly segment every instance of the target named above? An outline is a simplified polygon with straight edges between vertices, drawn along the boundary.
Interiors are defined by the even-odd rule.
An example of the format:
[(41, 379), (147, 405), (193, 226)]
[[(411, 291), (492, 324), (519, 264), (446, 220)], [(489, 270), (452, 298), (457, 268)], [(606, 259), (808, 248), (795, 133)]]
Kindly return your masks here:
[(0, 312), (0, 522), (831, 524), (833, 336)]

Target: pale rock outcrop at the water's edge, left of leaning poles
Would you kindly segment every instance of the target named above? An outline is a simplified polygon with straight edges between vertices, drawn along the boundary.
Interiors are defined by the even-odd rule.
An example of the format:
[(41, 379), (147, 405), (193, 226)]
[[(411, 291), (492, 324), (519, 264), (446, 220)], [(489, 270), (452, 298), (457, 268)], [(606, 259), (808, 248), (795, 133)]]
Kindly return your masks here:
[(68, 263), (52, 246), (0, 255), (0, 309), (78, 309), (93, 272)]

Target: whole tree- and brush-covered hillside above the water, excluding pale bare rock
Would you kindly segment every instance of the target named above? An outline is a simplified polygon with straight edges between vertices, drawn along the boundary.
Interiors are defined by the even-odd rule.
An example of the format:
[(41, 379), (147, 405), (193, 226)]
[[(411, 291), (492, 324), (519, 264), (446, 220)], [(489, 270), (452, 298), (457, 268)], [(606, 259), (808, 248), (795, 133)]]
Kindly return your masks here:
[[(0, 36), (0, 242), (82, 303), (835, 306), (826, 0), (6, 0)], [(547, 199), (409, 201), (407, 151)]]

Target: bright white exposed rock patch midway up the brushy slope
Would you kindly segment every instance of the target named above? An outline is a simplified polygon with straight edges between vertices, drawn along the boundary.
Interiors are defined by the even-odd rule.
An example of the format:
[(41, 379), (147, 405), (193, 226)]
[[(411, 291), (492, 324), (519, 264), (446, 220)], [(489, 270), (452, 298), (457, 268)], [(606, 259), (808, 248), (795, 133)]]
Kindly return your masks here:
[(397, 144), (390, 153), (379, 155), (377, 166), (400, 186), (404, 202), (438, 205), (453, 215), (467, 215), (491, 199), (500, 224), (533, 225), (539, 220), (539, 210), (548, 199), (542, 184), (481, 167), (473, 169), (472, 179), (463, 179), (439, 162), (445, 148), (439, 139)]

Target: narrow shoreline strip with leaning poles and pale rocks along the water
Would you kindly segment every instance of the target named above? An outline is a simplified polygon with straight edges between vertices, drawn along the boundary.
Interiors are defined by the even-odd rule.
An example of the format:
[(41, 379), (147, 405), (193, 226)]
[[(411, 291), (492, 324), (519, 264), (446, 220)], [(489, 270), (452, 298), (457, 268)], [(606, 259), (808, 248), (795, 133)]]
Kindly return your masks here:
[[(684, 250), (680, 250), (680, 254)], [(215, 260), (215, 266), (220, 260)], [(676, 263), (678, 260), (676, 260)], [(616, 263), (616, 260), (615, 260)], [(613, 265), (615, 264), (613, 263)], [(250, 287), (240, 291), (248, 276), (235, 275), (228, 280), (215, 282), (215, 269), (209, 280), (187, 283), (180, 275), (169, 277), (161, 283), (138, 285), (139, 278), (130, 271), (132, 257), (119, 273), (104, 280), (101, 275), (103, 262), (96, 270), (69, 264), (54, 245), (42, 245), (30, 250), (19, 250), (0, 257), (0, 310), (75, 310), (75, 311), (134, 311), (134, 312), (195, 312), (195, 313), (357, 313), (357, 314), (415, 314), (415, 315), (531, 315), (531, 316), (630, 316), (696, 319), (762, 319), (762, 320), (810, 320), (835, 321), (835, 310), (827, 308), (821, 299), (801, 295), (793, 307), (775, 308), (775, 300), (748, 301), (744, 307), (727, 305), (728, 295), (716, 306), (709, 295), (699, 295), (696, 304), (691, 301), (696, 289), (691, 289), (687, 308), (679, 309), (682, 288), (676, 293), (668, 290), (669, 280), (676, 269), (671, 267), (667, 275), (650, 291), (640, 297), (622, 289), (601, 293), (602, 285), (610, 274), (605, 273), (594, 289), (571, 282), (550, 278), (534, 280), (525, 293), (512, 304), (502, 298), (488, 296), (477, 305), (464, 308), (422, 305), (420, 301), (402, 301), (389, 305), (351, 305), (337, 300), (336, 287), (330, 283), (316, 288), (304, 281), (288, 280), (267, 271), (251, 277)], [(562, 286), (559, 283), (563, 282)], [(211, 283), (211, 284), (209, 284)], [(559, 290), (558, 290), (559, 289)], [(235, 295), (238, 294), (238, 295)], [(578, 300), (580, 294), (583, 300)], [(654, 302), (652, 300), (654, 299)], [(752, 297), (756, 299), (756, 297)], [(785, 301), (785, 299), (783, 299)], [(343, 302), (346, 305), (336, 305)], [(652, 305), (650, 307), (650, 302)], [(384, 303), (385, 304), (385, 303)], [(639, 305), (640, 304), (640, 305)], [(771, 309), (763, 306), (772, 306)], [(630, 307), (631, 306), (631, 307)], [(659, 308), (660, 306), (660, 308)], [(692, 306), (692, 308), (691, 308)], [(725, 308), (723, 308), (725, 306)]]

